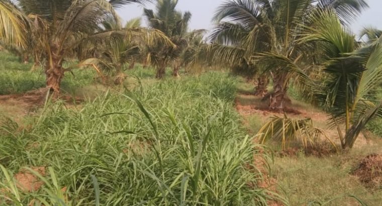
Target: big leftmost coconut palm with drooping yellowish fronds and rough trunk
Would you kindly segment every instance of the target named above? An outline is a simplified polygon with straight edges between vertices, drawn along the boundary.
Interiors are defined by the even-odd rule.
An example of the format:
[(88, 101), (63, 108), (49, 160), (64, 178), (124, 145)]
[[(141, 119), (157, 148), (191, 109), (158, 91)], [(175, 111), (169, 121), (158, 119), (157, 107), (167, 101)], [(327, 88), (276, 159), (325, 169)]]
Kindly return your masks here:
[[(28, 11), (28, 14), (25, 15), (38, 16), (46, 23), (47, 29), (41, 35), (41, 42), (47, 59), (45, 64), (46, 84), (52, 92), (58, 94), (60, 92), (61, 80), (67, 71), (63, 68), (62, 63), (72, 53), (72, 49), (76, 48), (85, 37), (100, 31), (100, 24), (108, 17), (113, 17), (117, 20), (115, 8), (130, 3), (144, 3), (148, 1), (18, 0), (16, 2), (19, 7), (9, 2), (6, 4), (2, 3), (3, 8), (5, 8), (3, 11), (8, 15), (8, 21), (2, 21), (0, 31), (6, 30), (7, 32), (5, 28), (14, 28), (12, 35), (9, 35), (7, 39), (23, 45), (22, 42), (25, 41), (23, 33), (27, 33), (26, 23), (21, 24), (15, 18), (9, 18), (12, 16), (7, 11), (12, 11), (15, 14), (23, 14), (22, 11)], [(4, 7), (4, 5), (7, 7)], [(7, 16), (2, 16), (1, 18), (4, 20)], [(27, 22), (30, 21), (28, 20)]]

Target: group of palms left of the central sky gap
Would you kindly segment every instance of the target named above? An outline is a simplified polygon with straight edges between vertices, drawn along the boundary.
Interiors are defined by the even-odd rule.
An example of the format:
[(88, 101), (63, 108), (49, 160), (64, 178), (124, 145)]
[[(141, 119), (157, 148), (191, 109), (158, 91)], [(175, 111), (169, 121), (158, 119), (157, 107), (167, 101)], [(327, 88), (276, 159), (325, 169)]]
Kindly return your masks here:
[(140, 18), (121, 24), (116, 8), (147, 2), (151, 1), (5, 0), (1, 2), (0, 38), (23, 58), (32, 53), (34, 67), (46, 61), (47, 86), (54, 93), (59, 93), (61, 79), (71, 69), (62, 63), (72, 57), (81, 60), (81, 66), (115, 75), (115, 83), (123, 80), (125, 65), (133, 68), (137, 59), (153, 65), (157, 78), (163, 78), (167, 66), (178, 76), (187, 59), (183, 57), (191, 56), (195, 41), (202, 44), (205, 31), (188, 32), (192, 15), (177, 11), (175, 0), (157, 1), (155, 12), (144, 10), (149, 28), (141, 26)]

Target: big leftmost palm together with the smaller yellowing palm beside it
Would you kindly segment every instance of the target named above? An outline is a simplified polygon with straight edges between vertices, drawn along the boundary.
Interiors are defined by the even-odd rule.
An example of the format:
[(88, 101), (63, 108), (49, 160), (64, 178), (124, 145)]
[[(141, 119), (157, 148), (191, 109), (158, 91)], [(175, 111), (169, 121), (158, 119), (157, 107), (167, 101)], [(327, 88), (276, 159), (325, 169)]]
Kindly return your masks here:
[[(65, 58), (76, 56), (98, 71), (122, 67), (146, 47), (177, 48), (163, 32), (152, 28), (122, 27), (115, 9), (146, 0), (2, 0), (0, 39), (23, 52), (33, 53), (35, 63), (44, 59), (47, 87), (60, 92)], [(98, 68), (100, 66), (100, 69)]]

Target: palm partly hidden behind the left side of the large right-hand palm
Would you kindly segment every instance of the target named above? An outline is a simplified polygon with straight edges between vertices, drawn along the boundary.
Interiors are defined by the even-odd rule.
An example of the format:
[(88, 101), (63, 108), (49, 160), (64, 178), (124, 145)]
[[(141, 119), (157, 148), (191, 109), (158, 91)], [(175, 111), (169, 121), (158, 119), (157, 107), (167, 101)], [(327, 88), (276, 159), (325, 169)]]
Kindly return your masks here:
[[(259, 11), (256, 8), (252, 8), (252, 2), (226, 2), (221, 5), (215, 14), (214, 20), (216, 27), (210, 35), (210, 40), (215, 45), (212, 45), (209, 50), (214, 56), (211, 60), (215, 63), (224, 62), (224, 65), (229, 65), (235, 74), (244, 75), (247, 81), (253, 80), (257, 77), (257, 85), (255, 87), (255, 95), (264, 96), (267, 92), (266, 87), (268, 84), (268, 76), (266, 70), (257, 66), (253, 61), (252, 56), (258, 52), (268, 51), (270, 47), (268, 44), (264, 44), (264, 40), (267, 36), (263, 36), (266, 32), (256, 32), (258, 24), (265, 24), (257, 22), (242, 23), (235, 21), (239, 16), (235, 17), (234, 14), (229, 14), (232, 11), (228, 11), (228, 8), (236, 7), (236, 12), (246, 13), (248, 19), (259, 19)], [(228, 13), (227, 13), (228, 12)], [(231, 19), (232, 18), (232, 19)], [(265, 28), (264, 28), (265, 29)], [(261, 41), (255, 41), (256, 39)], [(228, 53), (227, 53), (227, 52)], [(230, 58), (226, 58), (230, 56)]]

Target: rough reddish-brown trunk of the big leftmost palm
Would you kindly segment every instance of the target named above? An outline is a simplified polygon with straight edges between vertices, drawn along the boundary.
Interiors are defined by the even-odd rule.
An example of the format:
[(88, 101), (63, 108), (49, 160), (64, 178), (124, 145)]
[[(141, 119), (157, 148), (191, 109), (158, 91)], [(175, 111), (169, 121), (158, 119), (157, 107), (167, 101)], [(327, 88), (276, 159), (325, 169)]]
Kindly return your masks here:
[(62, 52), (58, 51), (58, 46), (51, 46), (50, 60), (45, 66), (46, 86), (55, 96), (60, 93), (61, 80), (64, 77), (64, 69), (62, 68)]

